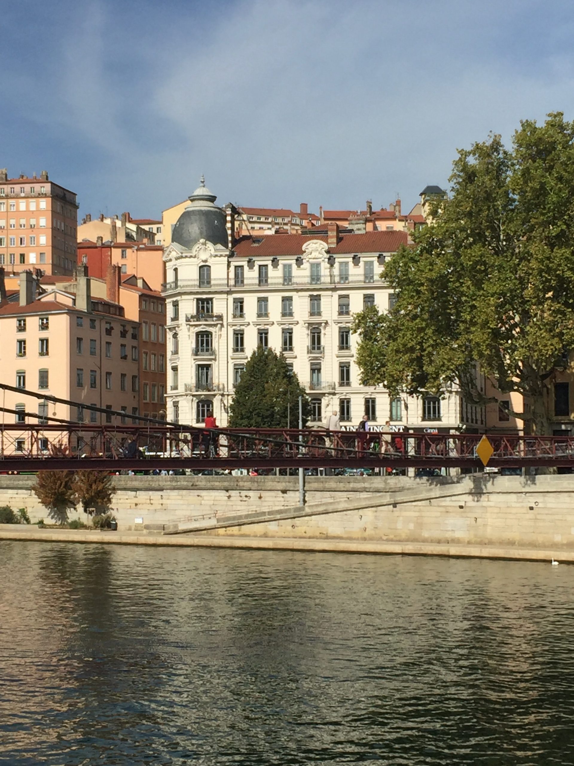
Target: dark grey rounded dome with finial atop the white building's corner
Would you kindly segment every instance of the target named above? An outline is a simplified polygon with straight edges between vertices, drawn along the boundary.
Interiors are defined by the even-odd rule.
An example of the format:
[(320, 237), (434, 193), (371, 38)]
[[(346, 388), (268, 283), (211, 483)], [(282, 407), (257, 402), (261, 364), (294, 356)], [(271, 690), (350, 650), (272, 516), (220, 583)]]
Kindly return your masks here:
[(229, 247), (227, 240), (226, 216), (221, 208), (214, 205), (217, 197), (211, 194), (205, 185), (203, 175), (201, 185), (189, 198), (190, 204), (178, 218), (171, 241), (181, 244), (185, 250), (191, 250), (201, 239), (211, 244)]

